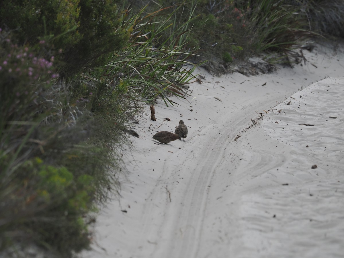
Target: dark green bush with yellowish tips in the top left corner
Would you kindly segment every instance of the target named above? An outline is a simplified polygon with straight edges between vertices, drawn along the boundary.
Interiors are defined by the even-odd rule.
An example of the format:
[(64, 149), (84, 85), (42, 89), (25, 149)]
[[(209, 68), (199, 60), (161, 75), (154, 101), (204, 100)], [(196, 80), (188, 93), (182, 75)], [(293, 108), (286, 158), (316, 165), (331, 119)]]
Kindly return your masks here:
[(39, 45), (45, 58), (55, 56), (60, 74), (74, 75), (105, 65), (127, 42), (130, 31), (115, 0), (4, 0), (0, 28), (13, 30), (18, 44)]

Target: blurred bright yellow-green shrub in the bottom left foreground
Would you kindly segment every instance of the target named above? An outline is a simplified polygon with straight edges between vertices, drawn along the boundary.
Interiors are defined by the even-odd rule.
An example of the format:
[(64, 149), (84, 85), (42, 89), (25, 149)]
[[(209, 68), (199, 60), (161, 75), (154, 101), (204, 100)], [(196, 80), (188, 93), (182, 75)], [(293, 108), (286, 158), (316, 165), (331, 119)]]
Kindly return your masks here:
[(12, 241), (18, 236), (29, 241), (30, 237), (64, 257), (87, 248), (90, 239), (83, 217), (95, 210), (90, 197), (95, 189), (93, 178), (75, 178), (66, 168), (45, 165), (39, 158), (25, 161), (17, 170), (20, 174), (11, 176), (1, 195), (6, 200), (0, 212), (4, 222), (1, 240), (19, 230)]

